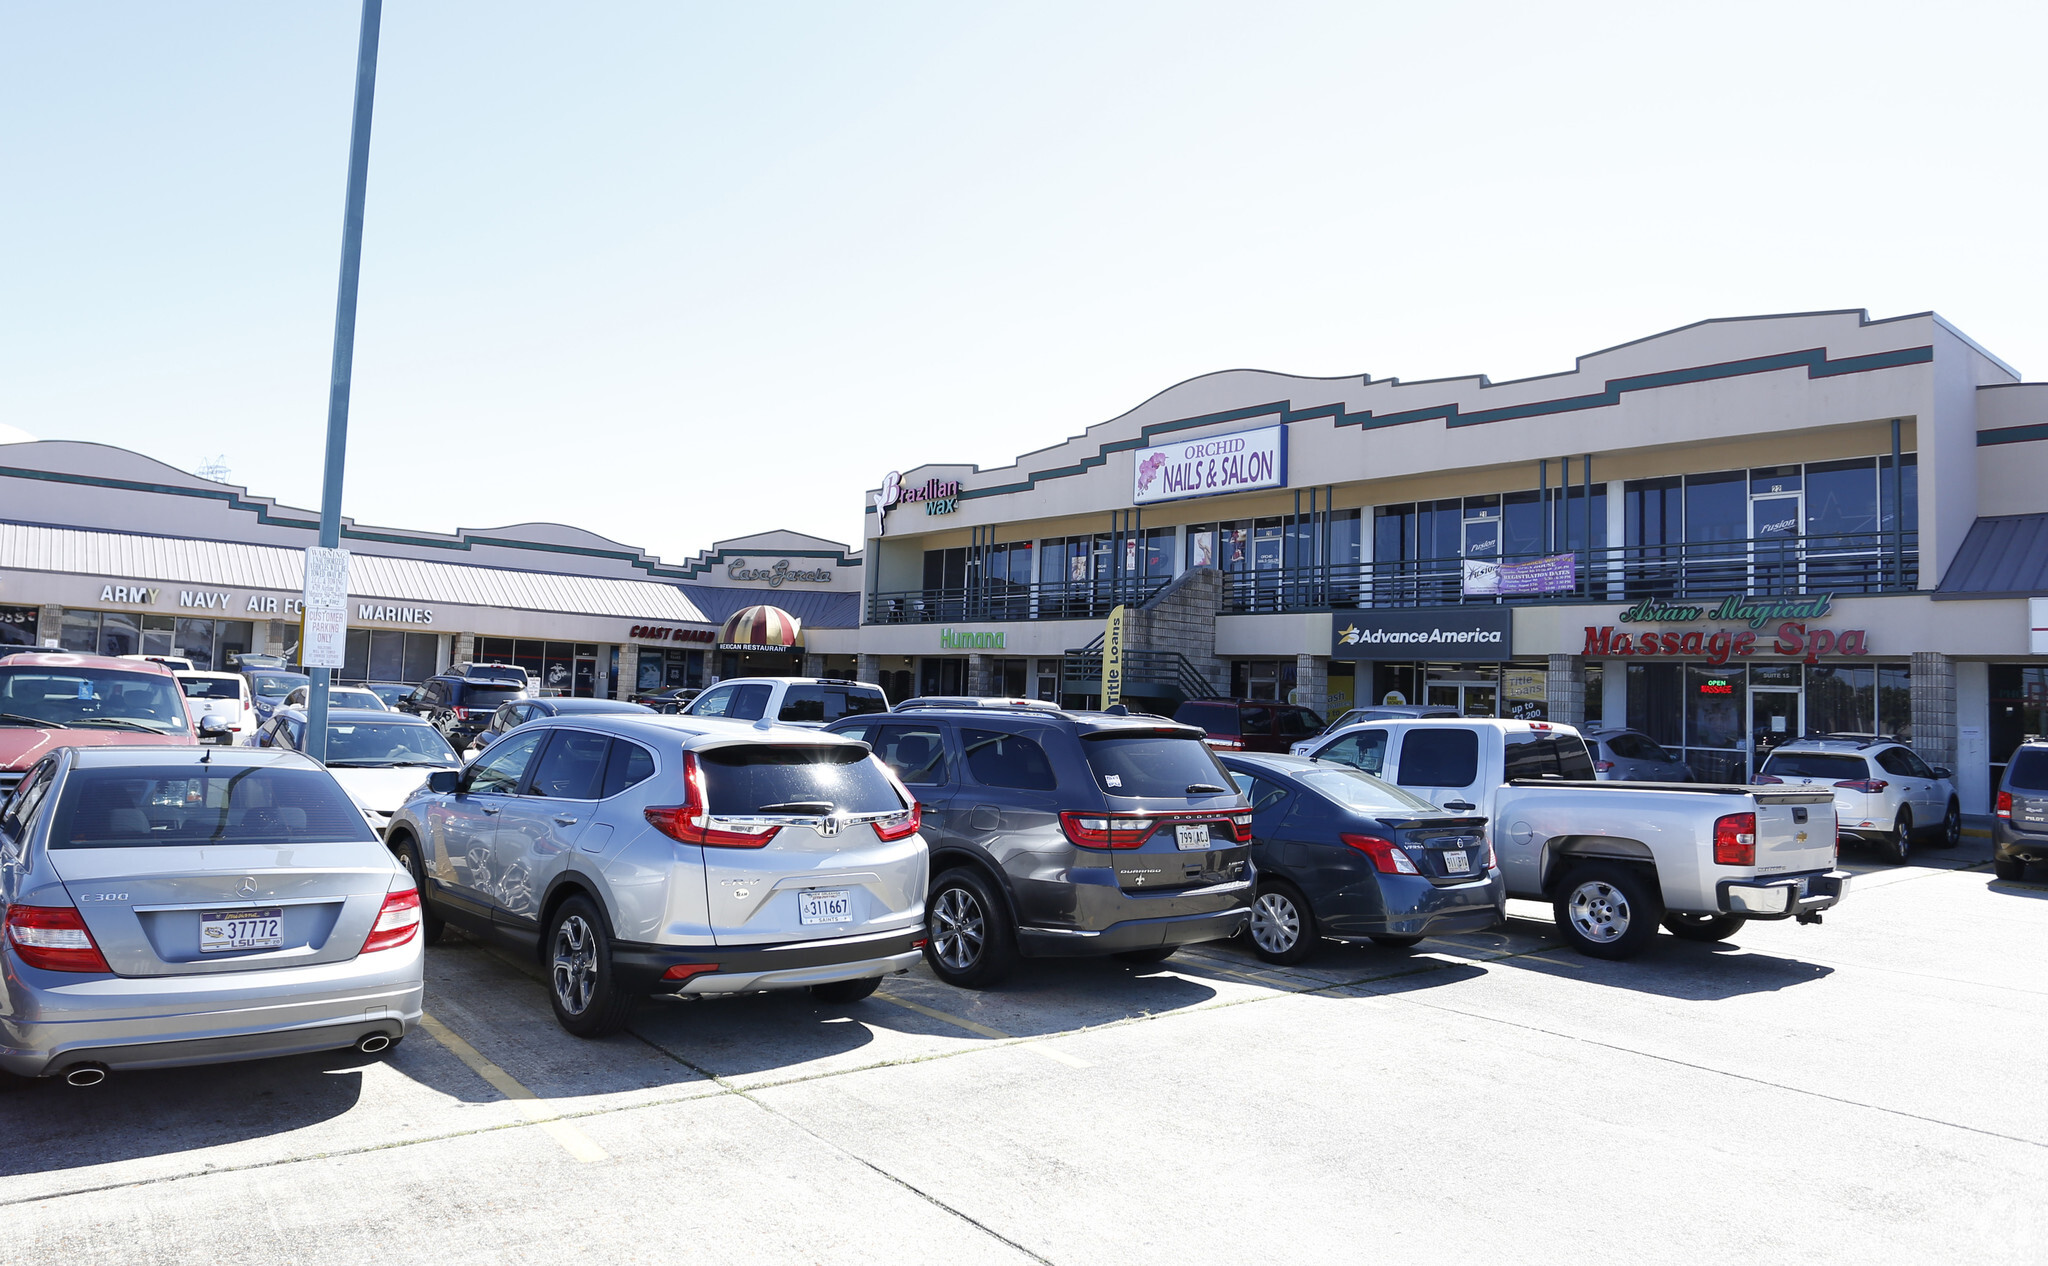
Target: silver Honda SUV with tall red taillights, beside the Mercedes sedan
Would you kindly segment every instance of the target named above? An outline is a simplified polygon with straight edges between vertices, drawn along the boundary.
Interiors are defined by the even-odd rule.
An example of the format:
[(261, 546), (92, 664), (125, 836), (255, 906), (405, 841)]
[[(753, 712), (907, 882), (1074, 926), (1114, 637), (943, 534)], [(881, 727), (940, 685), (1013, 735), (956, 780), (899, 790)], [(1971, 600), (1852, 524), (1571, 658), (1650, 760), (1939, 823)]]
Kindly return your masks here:
[(528, 721), (436, 772), (387, 832), (442, 922), (530, 946), (555, 1018), (647, 994), (858, 1002), (924, 946), (915, 799), (864, 744), (709, 717)]

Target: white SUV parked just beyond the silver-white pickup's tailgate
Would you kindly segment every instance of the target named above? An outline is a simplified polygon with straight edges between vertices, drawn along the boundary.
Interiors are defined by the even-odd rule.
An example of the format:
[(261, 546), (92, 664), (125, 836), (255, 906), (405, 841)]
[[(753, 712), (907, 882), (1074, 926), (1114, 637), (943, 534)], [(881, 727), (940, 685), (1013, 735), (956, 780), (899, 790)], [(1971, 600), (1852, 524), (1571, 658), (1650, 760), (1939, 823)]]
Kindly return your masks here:
[(1950, 770), (1921, 760), (1888, 737), (1804, 737), (1776, 748), (1757, 783), (1835, 789), (1835, 830), (1870, 840), (1894, 860), (1913, 852), (1913, 836), (1937, 828), (1935, 848), (1962, 842), (1962, 801)]

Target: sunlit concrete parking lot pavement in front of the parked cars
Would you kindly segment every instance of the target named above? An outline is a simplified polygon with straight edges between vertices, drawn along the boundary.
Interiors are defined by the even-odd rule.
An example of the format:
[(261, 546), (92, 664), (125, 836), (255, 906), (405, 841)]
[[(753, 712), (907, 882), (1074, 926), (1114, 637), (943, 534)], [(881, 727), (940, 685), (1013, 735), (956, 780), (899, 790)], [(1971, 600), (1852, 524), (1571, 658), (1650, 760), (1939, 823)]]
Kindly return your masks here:
[[(0, 1098), (14, 1260), (2028, 1260), (2048, 885), (1855, 854), (1823, 928), (1241, 942), (561, 1032), (457, 934), (354, 1053)], [(2036, 875), (2040, 879), (2040, 875)]]

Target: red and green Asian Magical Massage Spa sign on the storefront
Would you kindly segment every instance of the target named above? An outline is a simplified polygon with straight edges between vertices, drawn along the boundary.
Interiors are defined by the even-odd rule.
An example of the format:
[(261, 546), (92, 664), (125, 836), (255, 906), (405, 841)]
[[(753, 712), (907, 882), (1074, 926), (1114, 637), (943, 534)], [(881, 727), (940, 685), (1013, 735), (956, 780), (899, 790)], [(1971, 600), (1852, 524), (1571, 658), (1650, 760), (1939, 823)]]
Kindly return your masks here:
[[(1743, 623), (1745, 629), (1683, 629), (1636, 633), (1614, 629), (1614, 625), (1585, 627), (1585, 649), (1589, 660), (1618, 660), (1628, 656), (1665, 656), (1671, 660), (1706, 660), (1726, 664), (1749, 656), (1792, 656), (1815, 664), (1821, 656), (1868, 656), (1864, 629), (1819, 629), (1810, 621), (1827, 619), (1835, 604), (1835, 594), (1812, 594), (1808, 598), (1722, 598), (1712, 610), (1681, 602), (1661, 602), (1645, 598), (1626, 608), (1616, 621), (1624, 625), (1692, 625), (1700, 621)], [(1765, 625), (1769, 641), (1765, 637)]]

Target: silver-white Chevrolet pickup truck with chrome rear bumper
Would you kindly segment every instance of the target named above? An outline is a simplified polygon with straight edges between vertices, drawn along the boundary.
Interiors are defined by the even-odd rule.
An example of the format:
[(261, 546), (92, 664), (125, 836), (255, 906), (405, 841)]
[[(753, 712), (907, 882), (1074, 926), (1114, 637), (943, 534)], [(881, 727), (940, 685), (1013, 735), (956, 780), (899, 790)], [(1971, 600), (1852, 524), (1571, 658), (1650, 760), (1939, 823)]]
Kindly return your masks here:
[(1686, 940), (1726, 940), (1753, 918), (1819, 924), (1849, 881), (1835, 869), (1833, 789), (1595, 783), (1571, 725), (1368, 721), (1311, 756), (1483, 813), (1507, 895), (1550, 901), (1565, 938), (1595, 959), (1640, 953), (1659, 924)]

